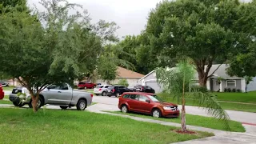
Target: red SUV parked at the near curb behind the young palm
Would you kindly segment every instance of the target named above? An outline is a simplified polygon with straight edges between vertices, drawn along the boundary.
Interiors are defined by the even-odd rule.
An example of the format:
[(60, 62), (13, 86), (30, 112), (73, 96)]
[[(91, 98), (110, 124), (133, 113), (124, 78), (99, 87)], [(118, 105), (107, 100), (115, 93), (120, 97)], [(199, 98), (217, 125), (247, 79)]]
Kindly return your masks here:
[(179, 116), (178, 106), (173, 103), (162, 102), (155, 94), (127, 92), (122, 94), (118, 103), (123, 113), (134, 111), (151, 114), (155, 118), (174, 118)]

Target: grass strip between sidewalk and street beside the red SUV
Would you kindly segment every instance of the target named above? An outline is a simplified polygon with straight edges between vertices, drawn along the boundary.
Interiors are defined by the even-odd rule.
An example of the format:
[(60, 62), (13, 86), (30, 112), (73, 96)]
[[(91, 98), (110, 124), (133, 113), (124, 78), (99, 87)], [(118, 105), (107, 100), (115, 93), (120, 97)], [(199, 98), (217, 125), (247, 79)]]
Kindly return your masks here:
[[(114, 111), (114, 112), (107, 111), (107, 112), (114, 113), (114, 114), (125, 114), (125, 113), (122, 113), (121, 111)], [(137, 114), (137, 113), (126, 113), (126, 115), (131, 115), (131, 116), (140, 117), (140, 118), (150, 118), (150, 119), (155, 119), (155, 120), (160, 120), (165, 122), (175, 122), (175, 123), (181, 122), (180, 118), (154, 118), (150, 115)], [(215, 130), (225, 130), (223, 128), (222, 122), (218, 121), (217, 119), (210, 118), (210, 117), (203, 117), (199, 115), (186, 114), (186, 124), (191, 126), (207, 127)], [(230, 121), (230, 131), (246, 132), (241, 122), (235, 122), (235, 121)]]

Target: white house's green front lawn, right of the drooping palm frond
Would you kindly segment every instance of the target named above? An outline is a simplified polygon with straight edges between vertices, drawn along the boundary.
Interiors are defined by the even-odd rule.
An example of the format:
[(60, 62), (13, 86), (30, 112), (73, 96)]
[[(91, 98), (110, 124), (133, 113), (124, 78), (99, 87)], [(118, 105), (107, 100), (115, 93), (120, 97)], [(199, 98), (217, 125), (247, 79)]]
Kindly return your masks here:
[(248, 93), (214, 93), (219, 101), (246, 102), (256, 104), (256, 91)]

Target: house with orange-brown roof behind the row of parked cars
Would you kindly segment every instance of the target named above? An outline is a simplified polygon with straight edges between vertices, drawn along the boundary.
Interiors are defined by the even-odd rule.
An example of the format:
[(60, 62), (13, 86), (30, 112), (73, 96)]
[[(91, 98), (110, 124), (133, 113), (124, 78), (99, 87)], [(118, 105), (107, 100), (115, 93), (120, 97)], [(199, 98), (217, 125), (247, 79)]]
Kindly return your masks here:
[[(138, 84), (138, 80), (144, 77), (145, 75), (139, 74), (132, 70), (127, 70), (123, 67), (118, 66), (117, 75), (114, 81), (110, 81), (111, 84), (118, 84), (118, 82), (122, 79), (126, 79), (129, 87), (136, 86)], [(106, 84), (102, 79), (96, 80), (96, 83)]]

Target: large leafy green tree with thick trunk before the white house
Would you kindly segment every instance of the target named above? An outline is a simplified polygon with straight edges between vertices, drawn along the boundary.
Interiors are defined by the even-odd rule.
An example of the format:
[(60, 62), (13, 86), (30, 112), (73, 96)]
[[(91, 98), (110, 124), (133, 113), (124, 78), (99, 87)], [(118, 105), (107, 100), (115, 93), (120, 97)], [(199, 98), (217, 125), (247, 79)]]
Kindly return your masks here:
[[(158, 56), (173, 61), (184, 55), (192, 58), (199, 84), (206, 86), (212, 65), (240, 53), (246, 46), (244, 41), (252, 35), (246, 26), (254, 27), (255, 17), (249, 14), (248, 6), (237, 0), (160, 2), (150, 12), (146, 26), (150, 46)], [(242, 14), (242, 8), (247, 14)], [(250, 24), (240, 29), (242, 22), (250, 18)]]

